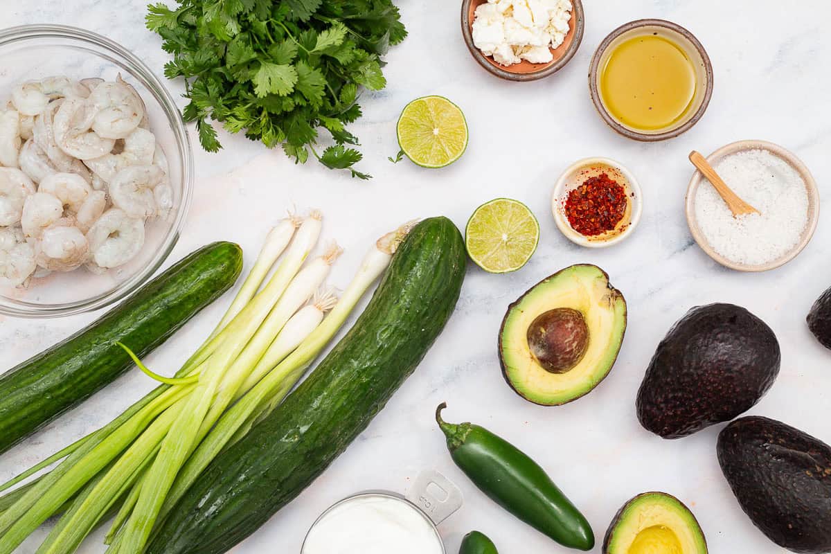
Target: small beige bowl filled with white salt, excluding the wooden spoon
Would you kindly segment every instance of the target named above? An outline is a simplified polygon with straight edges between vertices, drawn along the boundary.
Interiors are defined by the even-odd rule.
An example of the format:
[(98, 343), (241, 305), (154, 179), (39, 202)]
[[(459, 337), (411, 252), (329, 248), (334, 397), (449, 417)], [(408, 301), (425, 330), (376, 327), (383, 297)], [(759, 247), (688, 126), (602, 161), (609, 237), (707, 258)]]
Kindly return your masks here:
[(736, 271), (765, 272), (808, 246), (819, 222), (819, 189), (795, 154), (765, 140), (740, 140), (715, 150), (707, 161), (760, 211), (734, 218), (696, 170), (686, 190), (686, 223), (709, 257)]

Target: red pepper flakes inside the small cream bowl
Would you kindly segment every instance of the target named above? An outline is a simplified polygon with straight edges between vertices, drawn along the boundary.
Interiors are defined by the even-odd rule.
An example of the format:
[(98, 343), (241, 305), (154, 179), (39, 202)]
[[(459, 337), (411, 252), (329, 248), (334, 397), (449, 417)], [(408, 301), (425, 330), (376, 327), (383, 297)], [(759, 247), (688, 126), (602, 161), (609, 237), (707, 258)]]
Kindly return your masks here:
[(617, 227), (626, 213), (627, 202), (626, 189), (602, 173), (589, 177), (568, 193), (566, 217), (575, 231), (593, 237)]

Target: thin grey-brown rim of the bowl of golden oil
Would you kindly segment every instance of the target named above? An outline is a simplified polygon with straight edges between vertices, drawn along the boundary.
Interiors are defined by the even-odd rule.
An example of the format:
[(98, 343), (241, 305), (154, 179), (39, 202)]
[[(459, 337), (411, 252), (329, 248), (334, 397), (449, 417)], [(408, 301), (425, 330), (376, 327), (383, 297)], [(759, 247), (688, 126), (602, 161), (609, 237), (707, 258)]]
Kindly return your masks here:
[[(612, 117), (612, 115), (606, 110), (606, 107), (603, 105), (600, 98), (600, 91), (597, 90), (597, 70), (600, 67), (600, 59), (606, 52), (609, 45), (611, 45), (612, 41), (614, 41), (617, 37), (620, 37), (624, 32), (629, 32), (632, 31), (632, 29), (640, 27), (664, 27), (673, 32), (677, 32), (682, 37), (685, 37), (694, 47), (696, 47), (696, 51), (698, 51), (701, 56), (701, 60), (704, 61), (704, 70), (707, 76), (704, 99), (701, 101), (701, 105), (696, 110), (696, 113), (694, 113), (689, 120), (684, 122), (683, 125), (679, 125), (674, 129), (666, 130), (661, 133), (641, 133), (622, 125), (620, 121)], [(672, 139), (678, 135), (686, 133), (686, 131), (695, 126), (696, 123), (698, 123), (704, 116), (707, 106), (710, 105), (710, 100), (713, 96), (713, 66), (705, 47), (701, 44), (701, 42), (699, 42), (696, 36), (685, 27), (681, 27), (681, 25), (671, 21), (666, 21), (666, 19), (638, 19), (636, 21), (624, 23), (620, 27), (617, 27), (614, 31), (610, 32), (607, 37), (602, 40), (600, 45), (597, 47), (597, 50), (594, 51), (592, 63), (588, 68), (588, 91), (592, 96), (592, 102), (597, 110), (597, 113), (600, 114), (603, 120), (606, 121), (606, 124), (612, 127), (613, 130), (616, 130), (617, 133), (629, 139), (641, 140), (643, 142), (657, 142), (659, 140)]]

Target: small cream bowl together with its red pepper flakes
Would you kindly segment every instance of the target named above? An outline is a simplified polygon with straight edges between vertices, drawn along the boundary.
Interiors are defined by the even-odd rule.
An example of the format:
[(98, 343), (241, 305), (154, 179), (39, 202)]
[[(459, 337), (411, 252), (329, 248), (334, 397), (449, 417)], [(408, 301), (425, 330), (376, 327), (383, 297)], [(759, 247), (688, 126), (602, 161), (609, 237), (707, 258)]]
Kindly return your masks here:
[(554, 221), (575, 244), (605, 248), (627, 238), (641, 221), (641, 187), (608, 158), (586, 158), (563, 171), (551, 199)]

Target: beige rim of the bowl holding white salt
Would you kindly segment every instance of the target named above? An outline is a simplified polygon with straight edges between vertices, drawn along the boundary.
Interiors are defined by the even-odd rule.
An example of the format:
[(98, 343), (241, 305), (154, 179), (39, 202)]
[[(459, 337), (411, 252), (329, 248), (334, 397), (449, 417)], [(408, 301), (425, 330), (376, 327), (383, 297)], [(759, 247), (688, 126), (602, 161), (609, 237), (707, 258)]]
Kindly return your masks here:
[(802, 231), (802, 237), (799, 238), (799, 243), (790, 252), (786, 252), (782, 257), (779, 257), (779, 259), (755, 266), (733, 262), (721, 256), (718, 252), (715, 252), (710, 246), (710, 243), (707, 243), (707, 239), (704, 233), (701, 233), (701, 228), (699, 228), (698, 222), (696, 221), (696, 192), (701, 182), (706, 180), (704, 175), (698, 170), (692, 175), (690, 185), (686, 189), (686, 223), (690, 227), (692, 238), (696, 240), (701, 250), (706, 252), (707, 256), (713, 258), (722, 266), (730, 267), (730, 269), (735, 269), (740, 272), (766, 272), (770, 269), (783, 266), (785, 263), (793, 260), (808, 245), (811, 237), (814, 236), (814, 231), (819, 221), (819, 190), (817, 189), (816, 181), (814, 181), (814, 176), (811, 175), (809, 169), (805, 167), (805, 164), (799, 158), (789, 152), (789, 150), (785, 150), (779, 145), (774, 145), (764, 140), (740, 140), (739, 142), (731, 143), (730, 145), (721, 147), (719, 150), (715, 150), (715, 152), (707, 157), (707, 161), (711, 165), (715, 165), (725, 156), (735, 154), (742, 150), (768, 150), (771, 154), (774, 154), (777, 158), (784, 160), (792, 168), (796, 169), (796, 172), (804, 180), (805, 189), (808, 192), (808, 223)]

